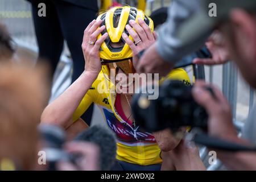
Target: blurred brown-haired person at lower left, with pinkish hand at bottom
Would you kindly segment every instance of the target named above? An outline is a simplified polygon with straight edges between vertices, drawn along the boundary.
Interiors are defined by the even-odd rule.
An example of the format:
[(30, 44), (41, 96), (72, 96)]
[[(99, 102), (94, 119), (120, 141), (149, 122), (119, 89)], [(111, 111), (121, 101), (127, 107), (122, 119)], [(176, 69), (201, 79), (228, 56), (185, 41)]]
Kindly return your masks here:
[[(49, 94), (45, 70), (0, 63), (0, 171), (47, 169), (47, 164), (38, 163), (43, 146), (38, 125)], [(98, 148), (93, 144), (68, 142), (64, 150), (80, 154), (80, 163), (59, 162), (58, 170), (98, 169)]]

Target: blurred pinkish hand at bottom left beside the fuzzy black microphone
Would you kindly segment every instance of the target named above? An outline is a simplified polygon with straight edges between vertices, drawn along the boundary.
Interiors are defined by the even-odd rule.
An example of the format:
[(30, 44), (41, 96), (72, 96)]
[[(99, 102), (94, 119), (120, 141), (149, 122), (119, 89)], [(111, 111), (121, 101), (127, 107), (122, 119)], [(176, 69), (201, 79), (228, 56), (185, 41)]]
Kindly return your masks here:
[(57, 169), (59, 171), (96, 171), (99, 170), (99, 148), (95, 144), (87, 142), (71, 142), (65, 144), (65, 150), (69, 154), (81, 155), (77, 166), (70, 162), (59, 162)]

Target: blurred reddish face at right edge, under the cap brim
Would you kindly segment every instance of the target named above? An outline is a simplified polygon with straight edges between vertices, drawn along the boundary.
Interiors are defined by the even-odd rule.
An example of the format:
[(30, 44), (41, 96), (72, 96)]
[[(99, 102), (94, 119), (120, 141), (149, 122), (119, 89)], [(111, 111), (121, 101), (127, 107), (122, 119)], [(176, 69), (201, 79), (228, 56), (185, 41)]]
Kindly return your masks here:
[(237, 64), (245, 80), (256, 88), (256, 14), (234, 9), (229, 18), (220, 30), (227, 39), (230, 59)]

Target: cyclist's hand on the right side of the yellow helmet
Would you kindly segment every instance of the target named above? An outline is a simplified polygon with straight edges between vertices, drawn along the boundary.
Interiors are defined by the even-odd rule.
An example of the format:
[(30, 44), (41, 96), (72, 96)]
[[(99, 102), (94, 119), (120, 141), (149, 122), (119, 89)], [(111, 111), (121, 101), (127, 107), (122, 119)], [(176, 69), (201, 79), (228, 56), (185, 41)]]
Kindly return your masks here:
[(150, 27), (148, 27), (141, 18), (138, 19), (138, 23), (134, 20), (130, 20), (129, 23), (130, 25), (126, 25), (126, 30), (129, 32), (135, 43), (132, 42), (125, 33), (122, 34), (122, 38), (133, 51), (133, 64), (136, 68), (136, 63), (138, 62), (137, 54), (143, 49), (150, 47), (151, 44), (155, 42), (156, 34), (155, 32), (152, 33)]

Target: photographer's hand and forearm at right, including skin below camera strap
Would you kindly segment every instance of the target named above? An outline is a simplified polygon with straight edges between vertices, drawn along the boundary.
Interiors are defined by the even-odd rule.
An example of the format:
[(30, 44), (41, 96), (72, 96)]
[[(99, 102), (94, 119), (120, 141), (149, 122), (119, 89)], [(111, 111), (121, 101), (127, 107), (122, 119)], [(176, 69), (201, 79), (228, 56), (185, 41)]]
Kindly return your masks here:
[[(215, 98), (208, 92), (205, 87), (212, 88)], [(228, 101), (216, 87), (205, 84), (203, 81), (196, 83), (192, 91), (195, 100), (205, 109), (209, 115), (208, 133), (213, 137), (229, 140), (239, 144), (250, 146), (247, 140), (237, 137), (237, 132), (232, 123), (232, 114)], [(214, 150), (214, 149), (213, 149)], [(233, 170), (256, 170), (256, 154), (255, 152), (229, 152), (218, 151), (217, 157)]]

